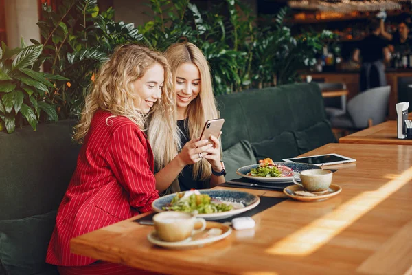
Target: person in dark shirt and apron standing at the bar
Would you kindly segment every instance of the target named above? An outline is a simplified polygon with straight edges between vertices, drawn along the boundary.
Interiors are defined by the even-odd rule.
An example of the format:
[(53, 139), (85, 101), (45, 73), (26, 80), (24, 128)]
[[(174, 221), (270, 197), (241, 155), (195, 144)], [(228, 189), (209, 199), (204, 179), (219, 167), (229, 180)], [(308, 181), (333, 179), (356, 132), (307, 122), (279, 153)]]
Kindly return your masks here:
[(388, 42), (379, 36), (379, 21), (372, 19), (368, 30), (369, 35), (359, 42), (352, 55), (352, 59), (358, 63), (362, 57), (360, 91), (386, 85), (384, 62), (389, 62), (390, 57)]

